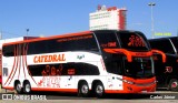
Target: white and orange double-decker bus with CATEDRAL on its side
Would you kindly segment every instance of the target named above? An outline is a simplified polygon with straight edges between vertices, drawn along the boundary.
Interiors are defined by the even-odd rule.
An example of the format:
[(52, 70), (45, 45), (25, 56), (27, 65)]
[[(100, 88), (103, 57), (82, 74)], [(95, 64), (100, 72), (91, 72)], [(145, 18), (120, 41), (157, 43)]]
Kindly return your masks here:
[(2, 87), (75, 92), (97, 97), (106, 93), (156, 90), (154, 53), (139, 31), (98, 30), (4, 43)]

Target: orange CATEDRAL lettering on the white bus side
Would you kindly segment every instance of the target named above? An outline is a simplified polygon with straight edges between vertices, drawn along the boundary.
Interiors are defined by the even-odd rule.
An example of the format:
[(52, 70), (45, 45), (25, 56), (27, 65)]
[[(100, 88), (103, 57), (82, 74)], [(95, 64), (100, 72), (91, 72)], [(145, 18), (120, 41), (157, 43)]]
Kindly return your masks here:
[(36, 55), (33, 59), (34, 63), (60, 62), (60, 61), (66, 61), (65, 54)]

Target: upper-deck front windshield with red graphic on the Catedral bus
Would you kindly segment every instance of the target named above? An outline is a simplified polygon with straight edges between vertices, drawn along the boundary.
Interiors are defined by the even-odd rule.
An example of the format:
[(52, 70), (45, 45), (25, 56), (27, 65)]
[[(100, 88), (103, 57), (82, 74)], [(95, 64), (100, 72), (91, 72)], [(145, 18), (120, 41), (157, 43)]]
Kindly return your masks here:
[(130, 50), (130, 51), (148, 51), (149, 48), (146, 43), (146, 40), (144, 37), (139, 34), (139, 32), (118, 32), (117, 33), (120, 45), (123, 49)]

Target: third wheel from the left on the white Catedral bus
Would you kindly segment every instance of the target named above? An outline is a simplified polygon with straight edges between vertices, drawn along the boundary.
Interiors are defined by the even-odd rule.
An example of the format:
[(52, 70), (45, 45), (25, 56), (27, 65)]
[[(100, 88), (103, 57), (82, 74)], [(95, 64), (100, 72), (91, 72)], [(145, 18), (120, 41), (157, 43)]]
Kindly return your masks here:
[(89, 96), (89, 86), (87, 82), (81, 82), (79, 84), (78, 95), (82, 97)]

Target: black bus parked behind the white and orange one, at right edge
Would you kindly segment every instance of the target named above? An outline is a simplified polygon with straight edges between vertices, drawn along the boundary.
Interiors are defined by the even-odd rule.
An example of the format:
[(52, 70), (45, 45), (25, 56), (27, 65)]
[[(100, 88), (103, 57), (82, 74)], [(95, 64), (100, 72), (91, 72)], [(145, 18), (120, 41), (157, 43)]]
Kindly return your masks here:
[(157, 87), (178, 91), (178, 37), (151, 39), (149, 42), (152, 49), (162, 51), (167, 58), (162, 63), (160, 55), (155, 55)]

